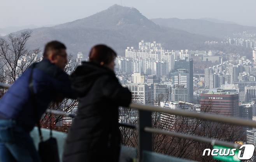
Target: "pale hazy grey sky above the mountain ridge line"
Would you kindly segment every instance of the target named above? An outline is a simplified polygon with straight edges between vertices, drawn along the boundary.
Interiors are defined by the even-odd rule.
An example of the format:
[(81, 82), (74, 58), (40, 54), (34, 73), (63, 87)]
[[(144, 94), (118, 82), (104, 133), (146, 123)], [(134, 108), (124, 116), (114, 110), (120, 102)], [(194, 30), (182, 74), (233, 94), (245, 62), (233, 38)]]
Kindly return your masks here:
[(1, 0), (0, 28), (65, 23), (114, 4), (135, 7), (150, 19), (211, 17), (256, 26), (256, 0)]

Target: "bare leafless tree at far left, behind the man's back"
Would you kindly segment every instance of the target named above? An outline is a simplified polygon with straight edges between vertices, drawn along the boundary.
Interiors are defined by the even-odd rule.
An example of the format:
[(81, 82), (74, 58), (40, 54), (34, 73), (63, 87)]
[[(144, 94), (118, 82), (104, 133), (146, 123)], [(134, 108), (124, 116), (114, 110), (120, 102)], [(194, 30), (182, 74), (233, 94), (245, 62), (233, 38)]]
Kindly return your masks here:
[(32, 31), (23, 31), (20, 35), (10, 34), (7, 40), (0, 38), (0, 62), (1, 68), (4, 68), (2, 77), (9, 83), (14, 82), (31, 63), (39, 61), (39, 49), (26, 49), (31, 34)]

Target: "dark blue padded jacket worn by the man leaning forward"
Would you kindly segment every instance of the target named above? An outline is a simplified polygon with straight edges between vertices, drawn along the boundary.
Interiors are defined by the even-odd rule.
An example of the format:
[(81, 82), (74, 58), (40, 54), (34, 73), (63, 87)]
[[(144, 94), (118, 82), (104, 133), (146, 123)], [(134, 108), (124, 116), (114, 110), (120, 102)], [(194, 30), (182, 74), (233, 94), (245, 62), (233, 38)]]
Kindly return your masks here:
[(29, 78), (32, 68), (28, 68), (0, 99), (0, 115), (6, 119), (16, 120), (26, 131), (31, 131), (51, 101), (56, 96), (75, 98), (71, 81), (67, 73), (43, 59), (35, 64), (32, 82), (37, 104), (37, 114), (29, 91)]

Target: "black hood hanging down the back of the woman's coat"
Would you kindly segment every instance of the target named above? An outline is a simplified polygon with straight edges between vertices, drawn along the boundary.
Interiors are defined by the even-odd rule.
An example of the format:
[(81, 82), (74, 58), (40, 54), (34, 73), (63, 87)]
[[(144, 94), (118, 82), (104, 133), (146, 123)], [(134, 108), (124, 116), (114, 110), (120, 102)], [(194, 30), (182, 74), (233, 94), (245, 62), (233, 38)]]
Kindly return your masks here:
[(78, 93), (78, 96), (84, 96), (89, 92), (95, 81), (105, 75), (116, 78), (114, 71), (107, 67), (93, 62), (83, 62), (71, 75), (72, 89)]

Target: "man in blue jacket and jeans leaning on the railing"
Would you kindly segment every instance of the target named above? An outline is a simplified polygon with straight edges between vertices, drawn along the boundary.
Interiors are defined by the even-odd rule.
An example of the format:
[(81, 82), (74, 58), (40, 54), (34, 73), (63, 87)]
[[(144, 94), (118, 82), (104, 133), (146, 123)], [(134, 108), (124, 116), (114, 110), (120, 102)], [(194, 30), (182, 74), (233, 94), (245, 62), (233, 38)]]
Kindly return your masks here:
[[(65, 45), (58, 41), (49, 42), (43, 57), (40, 63), (33, 65), (33, 70), (28, 68), (0, 99), (1, 162), (40, 162), (30, 131), (49, 103), (74, 96), (69, 77), (64, 72), (67, 64)], [(30, 75), (33, 97), (29, 89)]]

